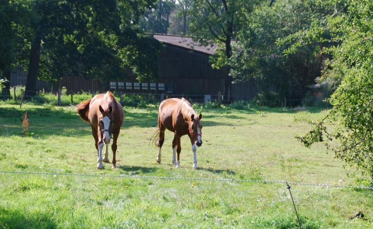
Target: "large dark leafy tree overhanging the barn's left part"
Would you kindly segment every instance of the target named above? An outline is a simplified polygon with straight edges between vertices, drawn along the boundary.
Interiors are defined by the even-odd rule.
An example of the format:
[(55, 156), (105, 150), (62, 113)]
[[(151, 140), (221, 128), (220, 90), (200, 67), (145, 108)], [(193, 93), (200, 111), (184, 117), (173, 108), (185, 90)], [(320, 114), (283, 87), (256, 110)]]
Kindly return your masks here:
[[(153, 68), (157, 65), (148, 58), (157, 59), (160, 43), (144, 42), (153, 38), (146, 37), (138, 27), (140, 16), (153, 3), (153, 0), (33, 1), (31, 8), (38, 20), (31, 27), (26, 94), (34, 94), (37, 77), (53, 80), (74, 72), (102, 80), (117, 78), (129, 66), (139, 80), (156, 78), (157, 71)], [(137, 43), (143, 47), (137, 48)]]

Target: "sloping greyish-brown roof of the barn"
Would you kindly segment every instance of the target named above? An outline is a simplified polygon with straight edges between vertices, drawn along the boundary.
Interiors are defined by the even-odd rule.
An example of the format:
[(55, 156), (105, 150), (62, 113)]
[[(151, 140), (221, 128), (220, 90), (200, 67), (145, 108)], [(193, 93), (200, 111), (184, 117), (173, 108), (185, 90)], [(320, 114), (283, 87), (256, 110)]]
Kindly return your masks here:
[[(217, 44), (214, 44), (211, 47), (195, 43), (191, 37), (182, 37), (178, 35), (169, 34), (153, 34), (153, 37), (159, 41), (162, 41), (163, 43), (180, 46), (186, 49), (196, 50), (198, 52), (203, 52), (209, 55), (213, 55), (217, 47)], [(232, 43), (235, 43), (235, 41), (232, 41)]]

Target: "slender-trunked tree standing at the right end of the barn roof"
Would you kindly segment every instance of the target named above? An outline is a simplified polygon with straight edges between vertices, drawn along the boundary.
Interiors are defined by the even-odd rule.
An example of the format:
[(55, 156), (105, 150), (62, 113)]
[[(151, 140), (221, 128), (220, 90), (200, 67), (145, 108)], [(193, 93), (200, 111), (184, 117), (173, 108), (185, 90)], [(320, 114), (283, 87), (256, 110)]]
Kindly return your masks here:
[(194, 0), (192, 5), (190, 35), (195, 41), (210, 45), (218, 44), (216, 54), (211, 58), (214, 68), (227, 67), (224, 80), (224, 96), (230, 100), (232, 76), (228, 64), (232, 53), (232, 40), (242, 30), (247, 12), (251, 12), (257, 4), (256, 0)]

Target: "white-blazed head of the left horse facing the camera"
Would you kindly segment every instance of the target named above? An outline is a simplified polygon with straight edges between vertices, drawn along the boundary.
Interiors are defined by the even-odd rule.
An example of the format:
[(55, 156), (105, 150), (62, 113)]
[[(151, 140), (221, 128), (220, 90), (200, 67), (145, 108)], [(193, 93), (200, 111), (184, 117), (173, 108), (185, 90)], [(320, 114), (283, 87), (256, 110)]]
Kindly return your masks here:
[(98, 123), (100, 127), (100, 131), (103, 135), (103, 141), (106, 144), (110, 144), (111, 135), (113, 133), (114, 128), (114, 117), (113, 117), (113, 107), (109, 105), (109, 108), (103, 109), (100, 105), (98, 107), (100, 109), (101, 115), (98, 118)]

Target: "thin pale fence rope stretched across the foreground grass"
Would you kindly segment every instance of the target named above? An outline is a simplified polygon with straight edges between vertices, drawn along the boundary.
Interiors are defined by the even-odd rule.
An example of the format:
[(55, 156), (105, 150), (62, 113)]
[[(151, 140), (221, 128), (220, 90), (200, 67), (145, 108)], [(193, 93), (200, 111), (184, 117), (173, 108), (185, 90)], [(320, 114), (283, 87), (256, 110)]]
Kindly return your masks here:
[(59, 176), (94, 176), (94, 177), (122, 177), (122, 178), (139, 178), (139, 179), (169, 179), (169, 180), (208, 180), (224, 182), (260, 182), (260, 183), (287, 183), (293, 185), (324, 186), (333, 188), (354, 188), (373, 190), (373, 187), (364, 186), (347, 186), (347, 185), (328, 185), (316, 183), (290, 182), (283, 180), (242, 180), (227, 178), (197, 178), (197, 177), (164, 177), (164, 176), (131, 176), (131, 175), (111, 175), (111, 174), (84, 174), (84, 173), (46, 173), (46, 172), (22, 172), (22, 171), (0, 171), (0, 173), (17, 173), (17, 174), (39, 174), (39, 175), (59, 175)]

